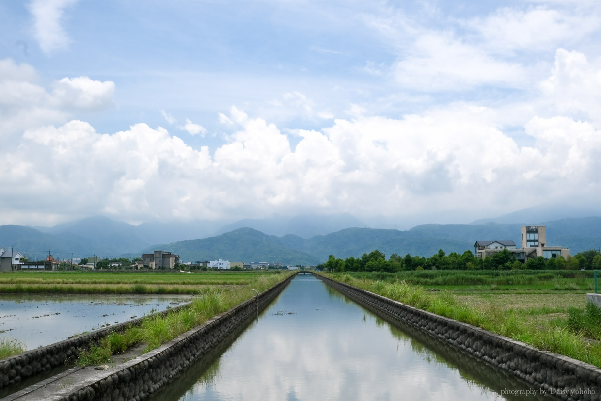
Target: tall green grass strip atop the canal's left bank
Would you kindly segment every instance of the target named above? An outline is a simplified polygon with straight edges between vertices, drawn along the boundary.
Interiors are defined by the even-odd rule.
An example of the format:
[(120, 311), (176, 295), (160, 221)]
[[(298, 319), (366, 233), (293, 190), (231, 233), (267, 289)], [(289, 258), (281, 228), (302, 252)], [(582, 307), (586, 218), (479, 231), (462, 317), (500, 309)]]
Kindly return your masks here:
[(153, 350), (216, 314), (252, 298), (255, 295), (253, 289), (262, 292), (291, 274), (293, 272), (282, 271), (281, 274), (258, 275), (244, 286), (209, 288), (185, 308), (163, 316), (147, 316), (139, 326), (130, 326), (122, 333), (112, 332), (98, 346), (81, 352), (77, 363), (81, 366), (106, 363), (111, 355), (120, 354), (134, 344), (147, 344), (144, 352)]

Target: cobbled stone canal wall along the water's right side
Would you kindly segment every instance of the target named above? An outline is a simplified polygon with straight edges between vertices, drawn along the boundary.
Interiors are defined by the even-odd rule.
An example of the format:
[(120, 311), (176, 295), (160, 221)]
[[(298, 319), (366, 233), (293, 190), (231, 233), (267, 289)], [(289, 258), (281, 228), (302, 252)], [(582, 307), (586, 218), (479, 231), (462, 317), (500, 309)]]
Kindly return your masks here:
[[(484, 329), (410, 307), (322, 275), (317, 278), (358, 302), (450, 344), (463, 353), (567, 400), (601, 400), (601, 369)], [(508, 389), (511, 390), (511, 389)]]

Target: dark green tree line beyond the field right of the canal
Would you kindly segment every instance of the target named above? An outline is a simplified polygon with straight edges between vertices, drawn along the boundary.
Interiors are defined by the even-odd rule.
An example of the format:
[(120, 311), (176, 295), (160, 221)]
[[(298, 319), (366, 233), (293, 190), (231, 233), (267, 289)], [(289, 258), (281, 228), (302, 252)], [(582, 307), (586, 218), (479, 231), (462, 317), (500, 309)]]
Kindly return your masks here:
[(451, 252), (446, 254), (440, 249), (438, 253), (426, 258), (423, 256), (411, 256), (406, 254), (404, 257), (398, 254), (391, 254), (386, 260), (386, 255), (378, 249), (370, 253), (364, 253), (361, 257), (348, 257), (347, 259), (336, 258), (334, 255), (328, 257), (328, 262), (317, 266), (333, 272), (398, 272), (404, 270), (511, 270), (511, 269), (601, 269), (601, 251), (599, 249), (589, 249), (576, 256), (560, 256), (545, 260), (542, 256), (528, 259), (526, 263), (516, 260), (511, 251), (503, 249), (495, 253), (492, 257), (478, 259), (472, 251), (465, 251), (463, 254)]

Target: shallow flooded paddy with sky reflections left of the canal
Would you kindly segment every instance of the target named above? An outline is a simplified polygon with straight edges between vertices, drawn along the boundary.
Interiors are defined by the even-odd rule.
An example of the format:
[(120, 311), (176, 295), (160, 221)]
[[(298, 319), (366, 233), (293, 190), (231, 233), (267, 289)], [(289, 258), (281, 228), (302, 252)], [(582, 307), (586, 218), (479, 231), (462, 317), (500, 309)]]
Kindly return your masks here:
[(191, 296), (1, 295), (0, 337), (34, 349), (189, 301)]

